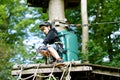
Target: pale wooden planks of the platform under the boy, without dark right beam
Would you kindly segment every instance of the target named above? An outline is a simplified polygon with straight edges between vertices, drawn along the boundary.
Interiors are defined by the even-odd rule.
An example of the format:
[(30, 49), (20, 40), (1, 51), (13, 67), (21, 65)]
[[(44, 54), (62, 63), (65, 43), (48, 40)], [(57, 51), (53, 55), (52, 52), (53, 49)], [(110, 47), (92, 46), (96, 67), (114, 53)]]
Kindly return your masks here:
[[(76, 71), (92, 71), (91, 66), (83, 65), (80, 62), (64, 62), (64, 64), (67, 66), (69, 64), (72, 65), (71, 72)], [(37, 73), (50, 73), (54, 67), (54, 64), (21, 64), (21, 65), (14, 65), (12, 69), (12, 75), (19, 75), (21, 69), (22, 74), (34, 74), (34, 72), (37, 70)], [(64, 66), (61, 66), (64, 67)], [(55, 67), (53, 72), (58, 73), (62, 72), (61, 68)]]

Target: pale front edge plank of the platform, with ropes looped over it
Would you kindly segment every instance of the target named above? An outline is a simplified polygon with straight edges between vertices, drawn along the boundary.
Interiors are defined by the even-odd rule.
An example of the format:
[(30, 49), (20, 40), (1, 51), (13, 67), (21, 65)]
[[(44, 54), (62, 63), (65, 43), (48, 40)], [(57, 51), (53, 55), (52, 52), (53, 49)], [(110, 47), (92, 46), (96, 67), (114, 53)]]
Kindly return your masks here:
[[(37, 69), (31, 68), (31, 69), (23, 70), (22, 75), (24, 75), (24, 74), (34, 74), (36, 72), (36, 70), (37, 70), (37, 73), (51, 73), (52, 69), (53, 68), (39, 68), (37, 70)], [(77, 71), (91, 71), (91, 70), (92, 70), (92, 67), (90, 67), (90, 66), (75, 66), (75, 67), (71, 67), (70, 71), (72, 71), (72, 72), (76, 71), (77, 72)], [(20, 71), (21, 70), (13, 70), (11, 74), (12, 75), (19, 75)], [(54, 73), (62, 72), (62, 69), (54, 68), (53, 72)]]

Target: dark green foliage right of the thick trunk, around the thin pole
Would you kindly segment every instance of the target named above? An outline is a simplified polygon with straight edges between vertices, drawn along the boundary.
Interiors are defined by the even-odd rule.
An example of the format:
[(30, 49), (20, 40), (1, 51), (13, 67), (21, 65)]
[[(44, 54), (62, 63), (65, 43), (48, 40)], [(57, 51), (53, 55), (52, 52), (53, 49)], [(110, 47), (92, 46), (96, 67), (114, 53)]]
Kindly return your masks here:
[[(88, 1), (88, 22), (89, 26), (89, 42), (87, 45), (89, 54), (81, 53), (82, 29), (77, 27), (77, 35), (80, 43), (79, 57), (83, 61), (90, 60), (90, 63), (116, 66), (119, 65), (120, 58), (120, 13), (119, 0), (89, 0)], [(114, 5), (114, 6), (113, 6)], [(79, 8), (78, 8), (79, 9)], [(79, 10), (67, 10), (67, 18), (70, 23), (81, 22), (77, 16)], [(77, 14), (76, 14), (77, 13)], [(74, 18), (74, 19), (73, 19)], [(116, 23), (118, 21), (118, 23)], [(115, 23), (113, 23), (115, 22)], [(97, 24), (99, 23), (99, 24)], [(110, 62), (103, 62), (103, 58), (108, 56)], [(120, 66), (119, 66), (120, 67)]]

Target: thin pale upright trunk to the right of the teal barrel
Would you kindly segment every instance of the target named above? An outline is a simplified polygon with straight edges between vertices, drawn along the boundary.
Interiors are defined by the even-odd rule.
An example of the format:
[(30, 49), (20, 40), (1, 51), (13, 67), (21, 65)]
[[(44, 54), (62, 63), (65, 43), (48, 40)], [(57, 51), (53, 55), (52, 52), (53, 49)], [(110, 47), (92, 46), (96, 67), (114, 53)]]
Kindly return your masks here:
[[(86, 48), (88, 42), (88, 16), (87, 16), (87, 0), (81, 0), (81, 17), (82, 17), (82, 53), (87, 54)], [(88, 60), (87, 60), (88, 62)]]

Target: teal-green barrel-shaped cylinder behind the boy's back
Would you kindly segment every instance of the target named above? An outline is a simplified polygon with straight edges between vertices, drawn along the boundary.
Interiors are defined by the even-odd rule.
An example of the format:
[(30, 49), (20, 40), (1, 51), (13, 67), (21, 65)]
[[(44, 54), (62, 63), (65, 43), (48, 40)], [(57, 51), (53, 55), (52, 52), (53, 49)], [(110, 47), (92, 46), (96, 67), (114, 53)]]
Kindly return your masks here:
[(64, 61), (78, 60), (78, 41), (76, 34), (69, 31), (58, 32), (66, 53), (61, 54)]

